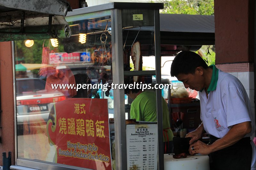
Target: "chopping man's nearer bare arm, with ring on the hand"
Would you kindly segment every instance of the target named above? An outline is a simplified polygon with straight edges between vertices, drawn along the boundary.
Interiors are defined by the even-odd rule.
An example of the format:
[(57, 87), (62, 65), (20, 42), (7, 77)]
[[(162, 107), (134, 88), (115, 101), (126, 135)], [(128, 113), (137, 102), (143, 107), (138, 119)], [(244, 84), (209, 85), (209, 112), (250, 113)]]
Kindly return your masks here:
[[(189, 153), (194, 155), (196, 153), (209, 154), (220, 149), (226, 148), (238, 142), (246, 134), (252, 130), (251, 122), (242, 122), (232, 126), (228, 133), (221, 139), (216, 140), (213, 144), (207, 145), (202, 141), (197, 141), (195, 144), (191, 144), (189, 147)], [(192, 151), (192, 146), (194, 150)]]

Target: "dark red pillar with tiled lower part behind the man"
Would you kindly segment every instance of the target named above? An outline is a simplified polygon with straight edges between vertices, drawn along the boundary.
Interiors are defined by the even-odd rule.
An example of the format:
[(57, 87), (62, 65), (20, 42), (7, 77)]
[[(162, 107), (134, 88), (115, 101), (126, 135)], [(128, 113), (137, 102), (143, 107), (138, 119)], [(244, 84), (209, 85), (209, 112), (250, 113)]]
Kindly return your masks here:
[(242, 82), (255, 114), (254, 3), (254, 0), (214, 0), (214, 17), (216, 67)]

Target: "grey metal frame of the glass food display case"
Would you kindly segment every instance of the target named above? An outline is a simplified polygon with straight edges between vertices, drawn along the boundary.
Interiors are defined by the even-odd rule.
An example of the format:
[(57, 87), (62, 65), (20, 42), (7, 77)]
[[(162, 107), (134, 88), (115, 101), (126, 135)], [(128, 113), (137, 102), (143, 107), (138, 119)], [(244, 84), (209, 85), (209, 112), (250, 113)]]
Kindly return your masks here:
[[(69, 12), (66, 20), (79, 21), (88, 19), (88, 16), (102, 17), (111, 16), (112, 27), (112, 69), (113, 83), (124, 84), (124, 76), (150, 75), (156, 76), (156, 83), (161, 84), (161, 55), (160, 55), (160, 24), (159, 9), (163, 9), (163, 3), (109, 3), (96, 5), (92, 7), (80, 8)], [(123, 67), (123, 26), (122, 10), (148, 10), (153, 13), (152, 23), (154, 24), (154, 50), (156, 60), (156, 70), (150, 71), (124, 71)], [(146, 17), (146, 16), (145, 16)], [(117, 57), (119, 56), (119, 57)], [(163, 118), (162, 118), (162, 95), (161, 89), (156, 90), (157, 100), (157, 127), (158, 127), (158, 169), (164, 169), (164, 147), (163, 147)], [(126, 156), (126, 126), (125, 126), (125, 105), (124, 89), (114, 89), (114, 118), (115, 118), (115, 147), (116, 147), (116, 169), (123, 170), (127, 168)], [(17, 140), (16, 140), (17, 144)], [(17, 154), (17, 148), (16, 148)], [(16, 166), (11, 169), (26, 169), (25, 167), (36, 169), (68, 170), (68, 169), (86, 169), (74, 166), (62, 166), (50, 162), (38, 160), (16, 158)], [(27, 168), (27, 169), (30, 169)]]

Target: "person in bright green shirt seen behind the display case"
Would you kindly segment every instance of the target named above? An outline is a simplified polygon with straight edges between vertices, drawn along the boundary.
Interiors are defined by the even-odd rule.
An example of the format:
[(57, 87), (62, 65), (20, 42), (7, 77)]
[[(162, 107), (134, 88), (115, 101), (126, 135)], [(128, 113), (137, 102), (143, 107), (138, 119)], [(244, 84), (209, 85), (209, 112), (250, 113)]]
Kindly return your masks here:
[[(136, 121), (157, 122), (156, 92), (126, 89), (126, 95), (133, 99), (130, 109), (131, 119)], [(173, 153), (173, 133), (170, 128), (169, 110), (162, 97), (164, 153)]]

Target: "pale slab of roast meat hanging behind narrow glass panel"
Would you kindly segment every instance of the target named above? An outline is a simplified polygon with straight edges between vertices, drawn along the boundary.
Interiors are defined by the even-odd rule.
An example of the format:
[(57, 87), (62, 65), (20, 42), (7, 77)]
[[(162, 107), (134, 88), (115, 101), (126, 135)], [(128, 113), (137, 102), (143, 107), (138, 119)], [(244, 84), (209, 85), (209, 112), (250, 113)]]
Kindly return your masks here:
[[(132, 63), (134, 65), (134, 71), (142, 70), (142, 54), (140, 42), (137, 41), (132, 45), (131, 50)], [(133, 81), (138, 82), (139, 76), (133, 76)]]

